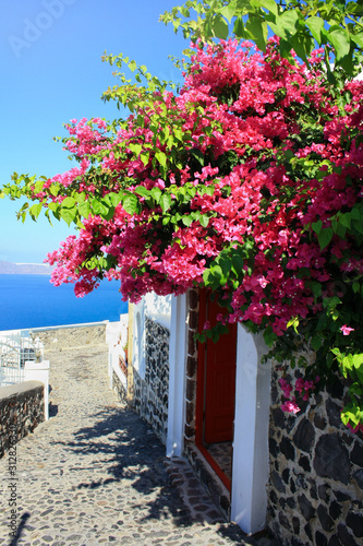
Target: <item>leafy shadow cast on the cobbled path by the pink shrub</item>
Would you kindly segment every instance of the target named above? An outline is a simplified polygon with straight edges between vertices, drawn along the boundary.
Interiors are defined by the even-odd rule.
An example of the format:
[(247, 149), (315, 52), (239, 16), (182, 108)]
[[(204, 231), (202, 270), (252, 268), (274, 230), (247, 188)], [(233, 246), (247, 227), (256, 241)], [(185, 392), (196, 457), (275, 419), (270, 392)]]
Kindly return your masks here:
[[(120, 407), (106, 407), (90, 417), (95, 425), (76, 430), (73, 441), (52, 442), (80, 458), (95, 455), (85, 463), (89, 470), (98, 467), (100, 475), (94, 479), (95, 474), (89, 474), (90, 479), (80, 483), (77, 489), (96, 489), (123, 482), (123, 487), (131, 486), (140, 494), (143, 508), (148, 507), (148, 515), (141, 521), (172, 515), (174, 524), (192, 525), (190, 510), (169, 483), (164, 466), (165, 447), (141, 417)], [(82, 468), (86, 470), (86, 465)], [(130, 508), (137, 508), (137, 503)]]

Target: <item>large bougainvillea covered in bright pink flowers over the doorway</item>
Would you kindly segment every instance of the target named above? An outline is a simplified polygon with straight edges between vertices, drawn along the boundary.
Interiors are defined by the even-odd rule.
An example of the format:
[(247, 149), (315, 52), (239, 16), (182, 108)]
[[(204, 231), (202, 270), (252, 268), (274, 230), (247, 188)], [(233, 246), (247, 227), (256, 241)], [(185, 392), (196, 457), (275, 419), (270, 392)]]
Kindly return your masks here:
[[(155, 290), (211, 288), (228, 323), (263, 330), (277, 360), (305, 378), (281, 384), (299, 411), (319, 384), (349, 387), (342, 420), (363, 423), (363, 84), (331, 87), (314, 51), (311, 68), (250, 43), (194, 45), (184, 84), (136, 70), (136, 85), (105, 93), (125, 120), (72, 120), (64, 147), (80, 164), (53, 178), (14, 176), (4, 192), (75, 223), (48, 256), (56, 285), (89, 293), (119, 278), (124, 299)], [(123, 58), (109, 57), (121, 68)], [(315, 353), (313, 360), (301, 349)], [(298, 356), (297, 356), (298, 355)], [(299, 356), (300, 355), (300, 356)], [(295, 395), (290, 400), (292, 391)]]

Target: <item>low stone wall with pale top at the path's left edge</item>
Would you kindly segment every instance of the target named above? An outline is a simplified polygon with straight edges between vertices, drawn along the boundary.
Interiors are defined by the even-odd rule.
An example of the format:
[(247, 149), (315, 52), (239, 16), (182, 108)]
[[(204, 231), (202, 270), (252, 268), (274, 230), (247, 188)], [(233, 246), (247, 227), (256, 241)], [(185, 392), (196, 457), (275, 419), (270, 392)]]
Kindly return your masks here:
[(45, 420), (44, 384), (40, 381), (0, 388), (0, 458)]

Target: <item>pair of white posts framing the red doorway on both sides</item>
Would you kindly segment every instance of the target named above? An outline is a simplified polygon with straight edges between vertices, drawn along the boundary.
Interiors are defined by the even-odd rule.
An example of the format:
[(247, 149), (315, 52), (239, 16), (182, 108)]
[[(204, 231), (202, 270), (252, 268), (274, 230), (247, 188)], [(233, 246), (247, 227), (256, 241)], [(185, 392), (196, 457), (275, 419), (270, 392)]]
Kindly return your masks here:
[[(184, 450), (186, 301), (186, 295), (171, 300), (167, 456), (181, 456)], [(265, 352), (263, 336), (239, 324), (231, 520), (247, 534), (262, 531), (266, 523), (271, 372), (270, 364), (261, 364)]]

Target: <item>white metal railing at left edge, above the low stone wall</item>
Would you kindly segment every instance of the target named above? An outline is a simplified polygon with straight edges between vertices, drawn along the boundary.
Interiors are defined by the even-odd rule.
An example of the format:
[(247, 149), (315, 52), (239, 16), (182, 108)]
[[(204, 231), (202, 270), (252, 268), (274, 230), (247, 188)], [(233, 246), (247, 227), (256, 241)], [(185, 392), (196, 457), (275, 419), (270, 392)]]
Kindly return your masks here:
[(44, 359), (44, 345), (27, 330), (0, 334), (0, 387), (24, 381), (26, 361)]

